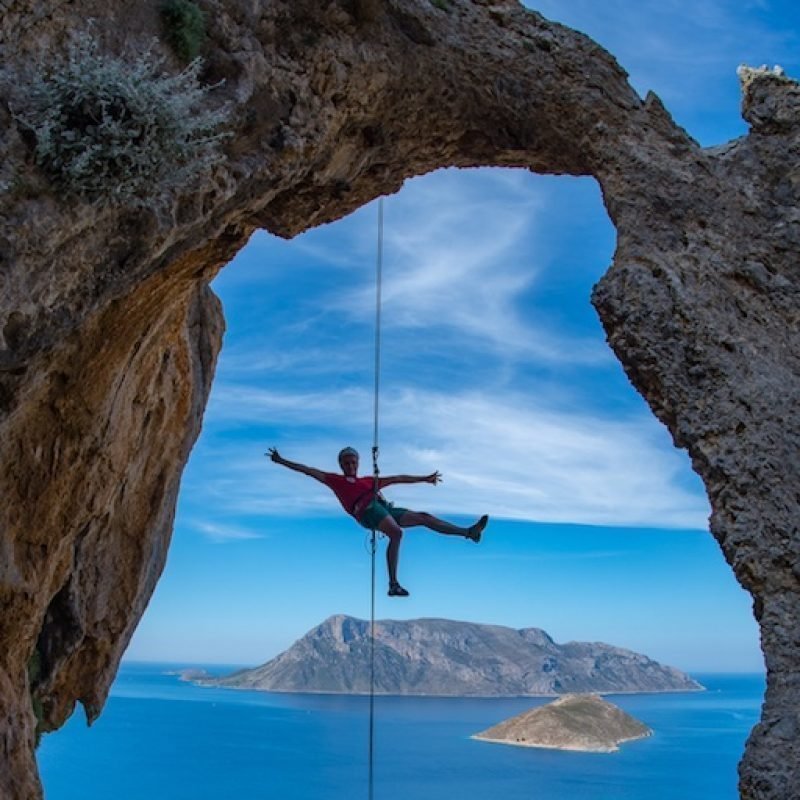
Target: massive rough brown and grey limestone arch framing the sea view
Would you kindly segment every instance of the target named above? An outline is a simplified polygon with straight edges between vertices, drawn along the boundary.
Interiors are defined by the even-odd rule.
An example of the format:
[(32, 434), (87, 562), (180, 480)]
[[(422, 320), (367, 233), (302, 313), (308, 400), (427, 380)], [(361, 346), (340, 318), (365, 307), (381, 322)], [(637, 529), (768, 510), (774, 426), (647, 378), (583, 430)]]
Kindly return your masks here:
[(100, 713), (163, 568), (219, 350), (216, 271), (258, 227), (291, 236), (409, 176), (501, 165), (602, 188), (618, 243), (593, 302), (761, 626), (741, 795), (797, 797), (798, 86), (747, 76), (749, 135), (703, 149), (598, 45), (512, 0), (201, 4), (233, 137), (157, 212), (60, 200), (7, 107), (88, 17), (113, 52), (159, 35), (157, 0), (0, 3), (0, 794), (40, 796), (37, 716)]

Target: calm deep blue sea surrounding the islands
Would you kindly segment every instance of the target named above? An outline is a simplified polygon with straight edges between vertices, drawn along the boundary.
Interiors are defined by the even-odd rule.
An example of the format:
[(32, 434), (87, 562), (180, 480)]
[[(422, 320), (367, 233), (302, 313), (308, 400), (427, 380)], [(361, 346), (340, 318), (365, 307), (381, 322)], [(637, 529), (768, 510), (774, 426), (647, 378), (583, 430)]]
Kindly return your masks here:
[[(47, 800), (353, 800), (367, 797), (367, 698), (203, 689), (127, 664), (87, 729), (44, 738)], [(376, 800), (736, 800), (760, 675), (693, 676), (709, 691), (611, 701), (654, 729), (618, 753), (477, 742), (544, 700), (376, 698)]]

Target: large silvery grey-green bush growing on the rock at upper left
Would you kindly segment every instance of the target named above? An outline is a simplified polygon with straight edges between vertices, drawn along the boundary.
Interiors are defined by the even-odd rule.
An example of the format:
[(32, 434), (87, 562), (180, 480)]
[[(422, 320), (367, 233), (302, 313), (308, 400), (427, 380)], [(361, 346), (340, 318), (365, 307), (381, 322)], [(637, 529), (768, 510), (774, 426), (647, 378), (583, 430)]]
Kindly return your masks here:
[[(148, 48), (99, 52), (88, 34), (37, 74), (17, 116), (34, 134), (37, 163), (67, 196), (143, 206), (165, 200), (222, 160), (227, 113), (202, 103), (199, 60), (177, 75)], [(211, 87), (213, 88), (213, 87)]]

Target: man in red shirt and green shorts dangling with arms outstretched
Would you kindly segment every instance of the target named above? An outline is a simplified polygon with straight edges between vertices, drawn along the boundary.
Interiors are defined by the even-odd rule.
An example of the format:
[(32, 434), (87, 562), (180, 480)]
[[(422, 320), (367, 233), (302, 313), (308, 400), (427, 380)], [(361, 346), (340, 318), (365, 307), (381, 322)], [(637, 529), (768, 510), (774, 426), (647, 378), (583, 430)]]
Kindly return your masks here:
[[(390, 597), (408, 597), (408, 592), (397, 582), (397, 562), (403, 528), (422, 525), (447, 536), (463, 536), (465, 539), (479, 542), (483, 529), (489, 521), (489, 517), (484, 515), (469, 528), (460, 528), (458, 525), (452, 525), (432, 514), (395, 507), (380, 493), (381, 489), (391, 486), (393, 483), (432, 483), (436, 485), (442, 479), (438, 472), (432, 472), (430, 475), (392, 475), (388, 478), (378, 477), (377, 479), (364, 476), (359, 478), (358, 452), (352, 447), (345, 447), (339, 453), (342, 475), (335, 472), (323, 472), (321, 469), (289, 461), (283, 458), (274, 447), (271, 447), (266, 455), (276, 464), (288, 467), (295, 472), (302, 472), (304, 475), (324, 483), (339, 499), (342, 508), (360, 525), (367, 530), (378, 530), (389, 537), (389, 545), (386, 548), (386, 565), (389, 570)], [(377, 493), (375, 491), (376, 480)]]

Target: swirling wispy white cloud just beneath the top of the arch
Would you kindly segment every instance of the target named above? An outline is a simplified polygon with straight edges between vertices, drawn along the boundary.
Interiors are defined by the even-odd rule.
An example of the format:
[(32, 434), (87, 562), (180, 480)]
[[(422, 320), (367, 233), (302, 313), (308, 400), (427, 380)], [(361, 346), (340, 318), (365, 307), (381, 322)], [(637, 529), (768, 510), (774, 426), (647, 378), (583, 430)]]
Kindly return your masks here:
[[(609, 354), (601, 343), (558, 334), (521, 311), (523, 295), (535, 305), (545, 272), (537, 227), (546, 193), (524, 172), (482, 171), (470, 181), (462, 173), (449, 170), (409, 181), (391, 198), (384, 327), (424, 329), (432, 337), (449, 330), (472, 347), (488, 346), (506, 356), (606, 363)], [(487, 202), (490, 197), (493, 202)], [(363, 274), (352, 291), (331, 297), (330, 307), (371, 319), (372, 281), (372, 273)]]

